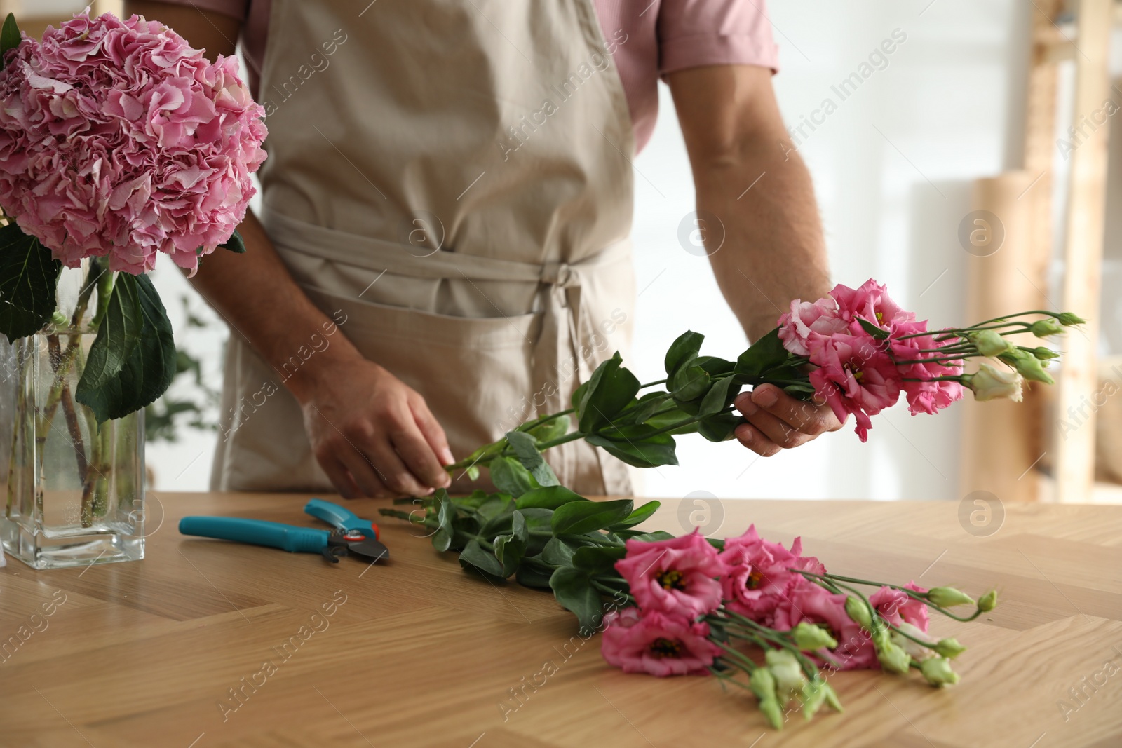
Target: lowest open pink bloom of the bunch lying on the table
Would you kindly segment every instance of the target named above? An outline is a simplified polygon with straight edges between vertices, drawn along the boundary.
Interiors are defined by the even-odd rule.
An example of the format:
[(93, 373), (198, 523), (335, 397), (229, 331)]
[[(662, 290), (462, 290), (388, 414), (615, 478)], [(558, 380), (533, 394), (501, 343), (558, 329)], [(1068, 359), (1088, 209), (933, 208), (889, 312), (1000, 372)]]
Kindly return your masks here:
[(625, 673), (705, 675), (720, 654), (708, 639), (708, 624), (636, 608), (614, 611), (604, 620), (600, 654)]

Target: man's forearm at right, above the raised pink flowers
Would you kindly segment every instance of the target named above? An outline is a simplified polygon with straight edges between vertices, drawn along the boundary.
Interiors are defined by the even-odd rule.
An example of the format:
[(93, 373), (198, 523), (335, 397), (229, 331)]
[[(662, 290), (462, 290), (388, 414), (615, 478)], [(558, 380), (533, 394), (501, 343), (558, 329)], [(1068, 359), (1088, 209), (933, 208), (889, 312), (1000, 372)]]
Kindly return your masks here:
[[(698, 213), (724, 224), (710, 262), (721, 293), (755, 340), (775, 326), (792, 298), (813, 301), (830, 288), (813, 186), (793, 150), (757, 142), (735, 158), (696, 169)], [(711, 219), (710, 219), (711, 220)], [(709, 240), (719, 238), (709, 230)]]

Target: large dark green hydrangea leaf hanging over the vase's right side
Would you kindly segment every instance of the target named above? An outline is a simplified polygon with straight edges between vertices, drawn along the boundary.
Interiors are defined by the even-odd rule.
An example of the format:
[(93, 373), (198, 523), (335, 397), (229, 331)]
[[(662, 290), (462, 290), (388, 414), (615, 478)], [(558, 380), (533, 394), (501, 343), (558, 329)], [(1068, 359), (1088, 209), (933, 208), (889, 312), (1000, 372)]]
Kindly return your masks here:
[[(155, 401), (175, 376), (175, 340), (159, 294), (148, 276), (127, 273), (118, 276), (113, 294), (130, 284), (135, 285), (140, 302), (141, 317), (140, 334), (132, 352), (121, 370), (100, 385), (83, 372), (74, 393), (74, 399), (89, 406), (98, 423), (120, 418)], [(98, 336), (101, 336), (100, 331)]]

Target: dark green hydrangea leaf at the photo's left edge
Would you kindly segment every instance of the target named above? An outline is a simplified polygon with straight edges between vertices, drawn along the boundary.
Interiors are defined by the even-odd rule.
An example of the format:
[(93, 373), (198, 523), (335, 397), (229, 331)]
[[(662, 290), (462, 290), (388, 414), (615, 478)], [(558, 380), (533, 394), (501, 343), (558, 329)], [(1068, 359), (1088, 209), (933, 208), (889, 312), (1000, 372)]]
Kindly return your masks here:
[(0, 332), (8, 342), (34, 335), (50, 321), (62, 268), (49, 249), (15, 223), (0, 228)]

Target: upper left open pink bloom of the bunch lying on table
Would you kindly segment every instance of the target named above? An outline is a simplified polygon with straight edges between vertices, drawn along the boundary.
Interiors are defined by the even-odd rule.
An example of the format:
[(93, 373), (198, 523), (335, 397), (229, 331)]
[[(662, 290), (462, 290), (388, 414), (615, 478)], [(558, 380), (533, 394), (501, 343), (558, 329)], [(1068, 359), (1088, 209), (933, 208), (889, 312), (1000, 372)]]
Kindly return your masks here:
[(693, 619), (720, 606), (716, 578), (725, 573), (725, 564), (697, 529), (669, 541), (627, 541), (627, 555), (616, 562), (616, 571), (644, 611)]

